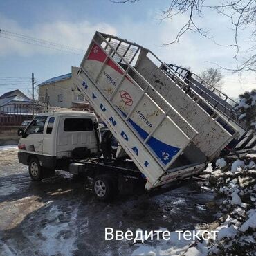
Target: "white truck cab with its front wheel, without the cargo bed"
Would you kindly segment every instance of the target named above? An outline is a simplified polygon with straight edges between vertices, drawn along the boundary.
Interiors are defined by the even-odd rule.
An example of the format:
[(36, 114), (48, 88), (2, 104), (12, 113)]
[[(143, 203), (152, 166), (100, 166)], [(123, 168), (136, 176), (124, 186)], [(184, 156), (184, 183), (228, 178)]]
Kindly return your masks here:
[(84, 159), (100, 151), (98, 119), (93, 111), (52, 111), (35, 116), (19, 129), (19, 162), (28, 165), (33, 180), (64, 170), (70, 159)]

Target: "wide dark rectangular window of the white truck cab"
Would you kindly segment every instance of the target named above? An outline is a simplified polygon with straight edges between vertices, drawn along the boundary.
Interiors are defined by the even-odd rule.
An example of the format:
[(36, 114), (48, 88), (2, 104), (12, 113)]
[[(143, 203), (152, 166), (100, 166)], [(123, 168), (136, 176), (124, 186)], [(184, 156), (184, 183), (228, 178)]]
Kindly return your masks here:
[(66, 118), (64, 131), (92, 131), (93, 121), (89, 118)]

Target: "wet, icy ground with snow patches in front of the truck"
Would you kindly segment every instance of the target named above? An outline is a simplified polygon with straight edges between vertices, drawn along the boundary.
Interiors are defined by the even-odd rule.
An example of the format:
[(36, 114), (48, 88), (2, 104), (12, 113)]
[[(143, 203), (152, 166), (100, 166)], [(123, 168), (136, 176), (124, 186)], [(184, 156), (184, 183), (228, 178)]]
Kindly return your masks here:
[[(65, 172), (42, 183), (30, 181), (16, 147), (0, 149), (0, 255), (199, 255), (188, 241), (129, 244), (105, 241), (114, 230), (194, 230), (217, 218), (216, 194), (192, 181), (155, 197), (122, 197), (100, 203)], [(181, 248), (181, 249), (179, 249)], [(203, 247), (202, 247), (203, 250)]]

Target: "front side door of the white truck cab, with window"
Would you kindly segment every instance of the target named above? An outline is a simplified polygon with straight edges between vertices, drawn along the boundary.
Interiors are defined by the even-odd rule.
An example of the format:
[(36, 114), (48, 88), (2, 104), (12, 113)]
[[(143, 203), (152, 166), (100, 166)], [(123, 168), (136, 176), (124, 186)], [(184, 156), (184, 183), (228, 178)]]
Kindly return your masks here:
[(44, 125), (47, 116), (37, 116), (25, 130), (20, 140), (20, 144), (24, 145), (26, 152), (35, 152), (42, 154), (44, 140)]

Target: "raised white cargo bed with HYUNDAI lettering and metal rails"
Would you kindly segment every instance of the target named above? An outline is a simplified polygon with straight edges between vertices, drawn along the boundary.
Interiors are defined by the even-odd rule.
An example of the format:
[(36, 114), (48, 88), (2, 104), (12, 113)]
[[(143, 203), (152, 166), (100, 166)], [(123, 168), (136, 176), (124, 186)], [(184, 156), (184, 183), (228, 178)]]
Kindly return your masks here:
[[(145, 174), (147, 189), (201, 171), (211, 156), (237, 136), (237, 131), (200, 95), (195, 93), (190, 98), (183, 86), (170, 80), (162, 70), (163, 62), (153, 65), (154, 71), (152, 66), (143, 67), (149, 63), (145, 60), (148, 53), (161, 62), (138, 44), (96, 32), (76, 81), (93, 109)], [(161, 72), (159, 77), (158, 72)], [(190, 107), (198, 112), (196, 116), (203, 115), (203, 122), (207, 120), (211, 124), (208, 134), (215, 131), (214, 135), (219, 138), (217, 143), (213, 142), (212, 151), (210, 147), (205, 149), (201, 141), (201, 134), (207, 135), (200, 128), (202, 124), (191, 122), (188, 109), (176, 104), (166, 91), (156, 86), (156, 80), (162, 79), (163, 74), (170, 89), (179, 89), (182, 93), (180, 103), (190, 102)], [(152, 75), (155, 75), (154, 81)], [(202, 106), (210, 108), (212, 113), (208, 114)]]

